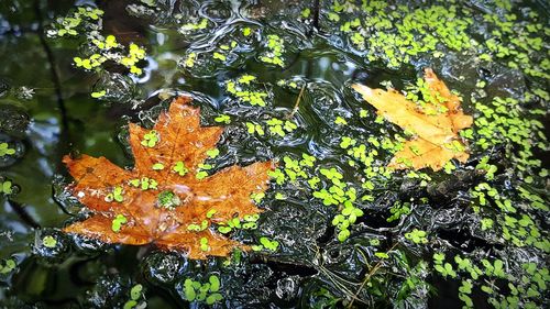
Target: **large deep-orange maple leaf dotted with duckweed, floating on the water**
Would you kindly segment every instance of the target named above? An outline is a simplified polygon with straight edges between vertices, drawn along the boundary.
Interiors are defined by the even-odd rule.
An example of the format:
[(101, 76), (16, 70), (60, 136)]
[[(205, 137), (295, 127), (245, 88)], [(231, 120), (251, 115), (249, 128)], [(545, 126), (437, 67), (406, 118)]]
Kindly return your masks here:
[(212, 223), (260, 213), (250, 195), (267, 188), (272, 162), (237, 165), (212, 176), (200, 164), (223, 131), (200, 126), (189, 97), (174, 100), (152, 130), (130, 123), (134, 167), (105, 157), (65, 156), (75, 181), (68, 187), (92, 216), (64, 229), (107, 243), (187, 251), (190, 258), (226, 256), (246, 246), (210, 228)]

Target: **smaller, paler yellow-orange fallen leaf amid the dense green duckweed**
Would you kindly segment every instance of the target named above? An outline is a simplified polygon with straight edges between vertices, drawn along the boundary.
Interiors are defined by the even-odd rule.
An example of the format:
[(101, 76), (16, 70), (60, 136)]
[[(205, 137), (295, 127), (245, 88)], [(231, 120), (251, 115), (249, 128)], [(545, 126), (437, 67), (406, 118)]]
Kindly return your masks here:
[[(430, 68), (425, 70), (425, 80), (430, 95), (441, 98), (439, 103), (447, 109), (446, 112), (427, 114), (417, 103), (407, 100), (394, 89), (385, 91), (359, 84), (352, 86), (377, 109), (378, 114), (416, 135), (395, 154), (388, 165), (391, 167), (431, 167), (439, 170), (452, 158), (465, 162), (469, 157), (458, 133), (472, 125), (472, 117), (462, 112), (459, 97), (451, 93)], [(438, 110), (438, 107), (433, 110)]]

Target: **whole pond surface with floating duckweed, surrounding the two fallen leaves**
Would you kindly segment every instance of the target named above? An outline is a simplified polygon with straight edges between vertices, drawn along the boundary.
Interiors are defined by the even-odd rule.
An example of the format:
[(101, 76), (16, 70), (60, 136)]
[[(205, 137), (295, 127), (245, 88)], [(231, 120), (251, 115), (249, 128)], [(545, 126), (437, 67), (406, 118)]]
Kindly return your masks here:
[[(2, 1), (2, 308), (548, 308), (549, 9)], [(429, 101), (425, 68), (473, 117), (470, 156), (394, 170), (411, 134), (352, 85)], [(89, 213), (63, 157), (131, 168), (128, 123), (178, 96), (224, 128), (209, 175), (277, 162), (257, 228), (229, 234), (257, 251), (194, 261), (64, 233)]]

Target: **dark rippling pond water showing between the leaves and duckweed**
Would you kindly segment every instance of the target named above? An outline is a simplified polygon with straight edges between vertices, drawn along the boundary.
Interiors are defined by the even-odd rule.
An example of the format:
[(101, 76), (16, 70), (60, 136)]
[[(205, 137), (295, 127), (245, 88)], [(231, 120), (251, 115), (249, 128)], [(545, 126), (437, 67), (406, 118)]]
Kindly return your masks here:
[[(0, 257), (16, 262), (14, 271), (0, 277), (4, 308), (122, 308), (135, 284), (145, 287), (141, 300), (146, 299), (147, 308), (202, 308), (204, 302), (185, 300), (184, 280), (205, 282), (211, 274), (222, 280), (224, 300), (215, 305), (218, 308), (461, 308), (458, 289), (468, 276), (442, 278), (433, 268), (436, 252), (446, 252), (449, 261), (454, 255), (469, 256), (479, 265), (483, 265), (480, 261), (484, 258), (492, 263), (505, 261), (506, 272), (514, 278), (485, 274), (474, 280), (471, 296), (475, 308), (491, 308), (487, 302), (491, 297), (514, 296), (508, 282), (520, 286), (516, 283), (521, 276), (530, 277), (519, 263), (536, 263), (542, 283), (548, 284), (548, 271), (543, 275), (543, 269), (548, 269), (548, 246), (515, 246), (503, 239), (504, 212), (495, 202), (485, 212), (472, 210), (477, 200), (471, 192), (485, 181), (518, 205), (526, 203), (515, 188), (526, 184), (524, 174), (529, 172), (536, 174), (534, 181), (527, 181), (532, 184), (528, 187), (548, 205), (543, 168), (516, 169), (517, 162), (510, 155), (517, 153), (512, 142), (485, 150), (472, 141), (471, 159), (454, 173), (426, 172), (431, 177), (429, 188), (454, 183), (443, 195), (430, 192), (419, 181), (405, 177), (405, 173), (376, 180), (375, 189), (362, 188), (364, 166), (350, 166), (346, 162), (353, 157), (340, 147), (342, 136), (366, 144), (371, 136), (394, 137), (402, 133), (388, 122), (375, 121), (374, 109), (350, 88), (353, 82), (384, 87), (391, 81), (396, 89), (405, 89), (421, 77), (425, 67), (432, 67), (451, 89), (461, 93), (466, 113), (479, 117), (472, 98), (491, 102), (497, 96), (519, 99), (528, 92), (536, 95), (527, 102), (521, 100), (525, 110), (538, 108), (546, 112), (548, 98), (537, 95), (535, 89), (548, 91), (548, 78), (507, 66), (509, 58), (480, 64), (474, 55), (481, 53), (481, 47), (454, 51), (440, 44), (438, 52), (442, 56), (421, 53), (398, 67), (391, 65), (384, 55), (369, 60), (370, 52), (361, 51), (351, 43), (350, 35), (340, 31), (344, 21), (369, 15), (358, 9), (361, 1), (355, 9), (351, 4), (344, 8), (338, 22), (327, 18), (329, 12), (338, 10), (333, 7), (338, 1), (319, 1), (319, 20), (316, 1), (158, 0), (151, 1), (156, 4), (150, 7), (142, 2), (0, 3), (0, 87), (8, 89), (0, 88), (0, 109), (2, 113), (6, 111), (0, 140), (10, 141), (16, 148), (12, 162), (2, 165), (0, 172), (20, 188), (19, 194), (1, 199)], [(428, 2), (405, 3), (411, 10), (439, 3)], [(96, 73), (75, 67), (73, 57), (87, 51), (85, 35), (66, 38), (48, 37), (46, 33), (57, 16), (67, 15), (76, 5), (97, 5), (105, 11), (101, 30), (105, 35), (113, 34), (122, 44), (134, 42), (144, 46), (147, 57), (140, 63), (143, 75), (130, 75), (128, 69), (109, 64)], [(515, 4), (513, 9), (499, 8), (491, 1), (452, 5), (459, 8), (459, 16), (475, 21), (468, 33), (480, 44), (493, 31), (481, 22), (483, 14), (504, 15), (509, 11), (524, 21), (528, 20), (529, 10), (538, 12), (542, 29), (534, 35), (542, 37), (543, 44), (540, 51), (529, 52), (529, 57), (536, 64), (548, 58), (548, 4), (543, 1)], [(310, 15), (302, 15), (305, 9), (310, 9)], [(183, 24), (199, 23), (201, 19), (208, 20), (205, 30), (177, 31)], [(244, 27), (252, 30), (250, 37), (242, 34)], [(268, 53), (268, 35), (273, 34), (284, 42), (283, 66), (262, 62), (262, 55)], [(513, 38), (514, 34), (506, 35)], [(223, 51), (221, 45), (231, 45), (233, 41), (237, 47), (227, 53), (226, 62), (212, 58), (212, 53)], [(193, 53), (198, 55), (195, 65), (184, 67), (183, 63)], [(548, 74), (544, 65), (538, 66)], [(266, 108), (239, 102), (226, 91), (228, 80), (245, 74), (257, 77), (255, 90), (268, 93)], [(298, 86), (279, 86), (279, 80)], [(479, 80), (486, 86), (476, 87)], [(306, 90), (294, 118), (297, 130), (287, 132), (285, 137), (246, 133), (244, 122), (284, 119), (292, 113), (302, 85), (307, 85)], [(90, 97), (90, 92), (103, 89), (108, 90), (106, 97), (99, 100)], [(59, 229), (81, 208), (64, 190), (72, 179), (61, 162), (63, 155), (73, 152), (106, 156), (119, 166), (131, 166), (127, 123), (151, 125), (158, 107), (166, 107), (179, 93), (194, 96), (195, 103), (202, 108), (204, 125), (217, 124), (215, 118), (221, 113), (232, 118), (218, 146), (221, 156), (215, 161), (217, 169), (284, 156), (299, 158), (301, 153), (308, 153), (317, 157), (316, 166), (306, 172), (308, 177), (320, 175), (319, 168), (336, 167), (344, 175), (344, 181), (358, 189), (358, 196), (372, 194), (373, 201), (358, 200), (365, 216), (350, 228), (350, 238), (344, 242), (337, 239), (338, 231), (330, 222), (338, 214), (338, 207), (323, 206), (314, 198), (306, 181), (272, 184), (261, 203), (266, 211), (258, 229), (233, 235), (246, 243), (270, 236), (280, 243), (278, 251), (244, 253), (240, 261), (233, 256), (230, 265), (224, 264), (224, 258), (190, 261), (185, 254), (160, 252), (153, 246), (106, 245), (63, 234)], [(361, 110), (367, 110), (366, 118), (360, 117)], [(525, 117), (531, 115), (526, 112)], [(348, 124), (334, 124), (338, 118), (345, 119)], [(26, 128), (24, 119), (30, 120)], [(543, 121), (543, 117), (538, 119)], [(531, 143), (544, 144), (542, 137)], [(383, 167), (392, 157), (388, 151), (380, 153), (373, 166)], [(544, 153), (537, 150), (535, 157), (543, 161)], [(485, 155), (498, 165), (494, 180), (484, 180), (475, 174)], [(548, 166), (546, 161), (542, 166)], [(327, 183), (330, 181), (323, 179), (321, 186), (328, 187)], [(276, 199), (277, 192), (286, 199)], [(427, 200), (420, 201), (422, 198)], [(387, 222), (397, 201), (410, 202), (411, 211)], [(519, 208), (517, 217), (525, 213), (532, 218), (541, 234), (539, 239), (547, 239), (548, 210)], [(495, 219), (494, 228), (481, 231), (481, 219), (487, 216)], [(405, 234), (415, 228), (428, 231), (428, 244), (407, 241)], [(55, 236), (54, 249), (43, 245), (45, 235)], [(391, 257), (376, 255), (384, 252)], [(416, 280), (410, 288), (406, 288), (408, 278)], [(482, 291), (487, 282), (499, 288), (495, 294), (499, 296)], [(526, 289), (529, 287), (526, 285)], [(538, 308), (548, 306), (547, 288), (539, 284), (534, 289), (538, 295), (521, 298), (520, 305), (532, 301), (542, 306)], [(353, 297), (358, 299), (351, 301)]]

